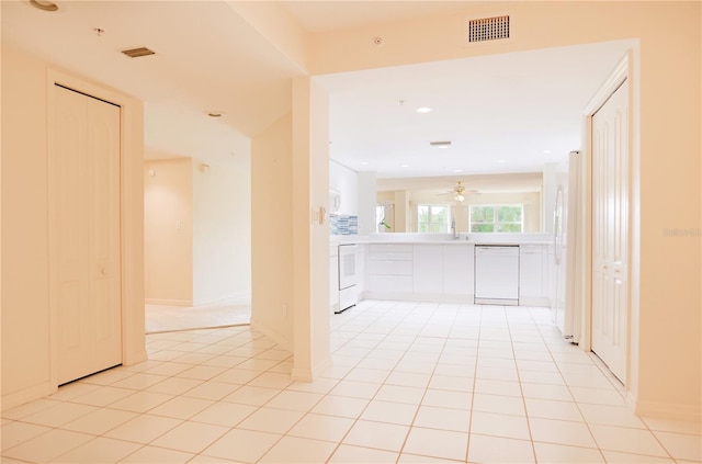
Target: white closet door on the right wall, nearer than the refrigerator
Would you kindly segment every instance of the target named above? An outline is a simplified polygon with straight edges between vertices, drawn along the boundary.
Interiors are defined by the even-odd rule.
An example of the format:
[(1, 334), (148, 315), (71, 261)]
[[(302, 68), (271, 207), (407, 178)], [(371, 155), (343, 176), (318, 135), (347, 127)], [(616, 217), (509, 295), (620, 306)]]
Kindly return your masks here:
[(629, 90), (592, 116), (592, 351), (626, 381)]

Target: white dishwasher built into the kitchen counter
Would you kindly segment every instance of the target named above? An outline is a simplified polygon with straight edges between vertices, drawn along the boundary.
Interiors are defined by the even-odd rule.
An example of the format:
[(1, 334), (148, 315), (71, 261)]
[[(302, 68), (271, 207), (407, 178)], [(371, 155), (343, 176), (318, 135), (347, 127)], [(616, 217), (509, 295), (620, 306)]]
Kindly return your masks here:
[(475, 246), (475, 304), (519, 305), (519, 246)]

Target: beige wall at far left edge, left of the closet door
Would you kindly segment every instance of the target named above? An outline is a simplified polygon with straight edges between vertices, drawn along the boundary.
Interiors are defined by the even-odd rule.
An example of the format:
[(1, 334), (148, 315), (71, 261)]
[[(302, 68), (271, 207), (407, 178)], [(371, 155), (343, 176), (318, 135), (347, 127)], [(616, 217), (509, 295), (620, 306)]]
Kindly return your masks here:
[(49, 383), (46, 88), (46, 63), (3, 44), (3, 396)]

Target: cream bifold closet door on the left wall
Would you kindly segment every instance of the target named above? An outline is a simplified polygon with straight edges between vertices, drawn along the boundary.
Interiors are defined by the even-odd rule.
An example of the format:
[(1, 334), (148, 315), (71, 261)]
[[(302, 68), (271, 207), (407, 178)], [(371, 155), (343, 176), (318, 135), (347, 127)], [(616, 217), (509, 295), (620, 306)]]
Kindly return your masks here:
[(54, 87), (52, 272), (58, 384), (122, 362), (120, 107)]

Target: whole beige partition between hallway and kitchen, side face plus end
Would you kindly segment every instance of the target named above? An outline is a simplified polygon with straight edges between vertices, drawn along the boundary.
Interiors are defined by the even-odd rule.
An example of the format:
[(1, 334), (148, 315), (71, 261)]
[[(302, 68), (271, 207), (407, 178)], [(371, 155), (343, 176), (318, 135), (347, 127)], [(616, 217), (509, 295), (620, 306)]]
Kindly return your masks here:
[(298, 381), (331, 362), (327, 127), (327, 95), (303, 78), (251, 144), (251, 325), (294, 352)]

